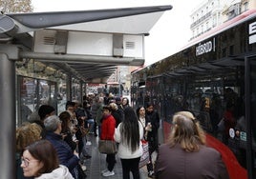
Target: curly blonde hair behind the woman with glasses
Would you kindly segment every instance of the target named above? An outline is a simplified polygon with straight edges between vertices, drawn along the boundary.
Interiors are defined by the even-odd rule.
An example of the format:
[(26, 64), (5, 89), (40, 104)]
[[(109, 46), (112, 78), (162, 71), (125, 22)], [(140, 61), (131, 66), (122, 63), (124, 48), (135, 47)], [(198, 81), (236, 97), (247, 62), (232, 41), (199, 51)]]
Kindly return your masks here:
[(20, 152), (41, 139), (42, 128), (35, 123), (26, 123), (16, 129), (16, 151)]

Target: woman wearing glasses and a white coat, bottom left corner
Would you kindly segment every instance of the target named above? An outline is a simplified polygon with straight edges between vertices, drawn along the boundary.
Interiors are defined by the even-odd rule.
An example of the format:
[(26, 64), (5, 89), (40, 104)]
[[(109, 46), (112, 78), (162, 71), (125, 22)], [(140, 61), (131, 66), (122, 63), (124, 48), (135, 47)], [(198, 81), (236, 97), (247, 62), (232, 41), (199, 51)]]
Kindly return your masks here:
[(56, 151), (48, 140), (36, 141), (23, 151), (21, 168), (25, 177), (74, 179), (67, 167), (59, 165)]

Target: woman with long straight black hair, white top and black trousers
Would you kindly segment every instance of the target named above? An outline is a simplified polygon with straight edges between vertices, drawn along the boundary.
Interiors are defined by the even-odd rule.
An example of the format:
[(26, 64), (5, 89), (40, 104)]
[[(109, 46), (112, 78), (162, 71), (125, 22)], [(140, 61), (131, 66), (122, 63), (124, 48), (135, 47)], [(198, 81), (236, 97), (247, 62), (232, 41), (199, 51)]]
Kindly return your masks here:
[(130, 171), (133, 178), (139, 179), (139, 160), (143, 149), (141, 139), (143, 127), (134, 109), (124, 109), (124, 119), (115, 130), (114, 139), (118, 143), (117, 155), (121, 160), (122, 178), (129, 179)]

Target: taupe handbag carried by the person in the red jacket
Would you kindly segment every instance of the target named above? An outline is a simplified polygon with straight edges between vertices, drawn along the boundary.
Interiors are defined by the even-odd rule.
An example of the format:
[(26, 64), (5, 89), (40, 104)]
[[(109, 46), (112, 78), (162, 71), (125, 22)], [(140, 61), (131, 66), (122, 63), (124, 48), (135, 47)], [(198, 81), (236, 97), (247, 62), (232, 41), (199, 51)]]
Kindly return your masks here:
[(105, 154), (117, 153), (117, 143), (112, 140), (99, 140), (98, 150)]

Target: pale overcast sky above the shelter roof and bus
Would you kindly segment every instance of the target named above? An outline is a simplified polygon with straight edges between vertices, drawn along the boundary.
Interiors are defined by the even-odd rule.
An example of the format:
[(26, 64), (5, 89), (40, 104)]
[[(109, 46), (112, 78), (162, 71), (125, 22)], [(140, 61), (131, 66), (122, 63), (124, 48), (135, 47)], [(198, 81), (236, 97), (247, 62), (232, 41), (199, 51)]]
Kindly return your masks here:
[(145, 37), (145, 66), (181, 50), (192, 36), (190, 14), (206, 0), (32, 0), (33, 11), (100, 10), (171, 5)]

